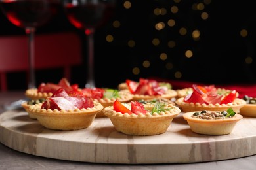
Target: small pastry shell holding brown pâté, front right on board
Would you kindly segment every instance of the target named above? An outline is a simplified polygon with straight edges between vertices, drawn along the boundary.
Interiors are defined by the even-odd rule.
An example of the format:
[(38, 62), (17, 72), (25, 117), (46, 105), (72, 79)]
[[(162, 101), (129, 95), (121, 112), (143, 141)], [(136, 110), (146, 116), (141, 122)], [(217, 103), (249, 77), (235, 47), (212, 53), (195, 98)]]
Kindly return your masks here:
[[(199, 111), (200, 112), (200, 111)], [(227, 135), (232, 132), (236, 123), (243, 118), (240, 114), (235, 114), (231, 118), (206, 120), (193, 118), (194, 112), (186, 112), (182, 116), (188, 122), (190, 129), (202, 135)]]

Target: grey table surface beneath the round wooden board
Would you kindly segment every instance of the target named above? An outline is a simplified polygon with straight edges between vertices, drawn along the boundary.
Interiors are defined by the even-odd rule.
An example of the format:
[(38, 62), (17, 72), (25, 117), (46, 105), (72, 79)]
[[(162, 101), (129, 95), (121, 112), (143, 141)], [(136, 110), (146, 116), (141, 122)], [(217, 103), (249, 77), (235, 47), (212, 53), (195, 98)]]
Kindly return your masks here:
[[(24, 99), (24, 92), (1, 92), (0, 114), (9, 109), (5, 104), (20, 99)], [(0, 143), (0, 169), (256, 169), (256, 155), (202, 163), (123, 165), (44, 158), (18, 152)]]

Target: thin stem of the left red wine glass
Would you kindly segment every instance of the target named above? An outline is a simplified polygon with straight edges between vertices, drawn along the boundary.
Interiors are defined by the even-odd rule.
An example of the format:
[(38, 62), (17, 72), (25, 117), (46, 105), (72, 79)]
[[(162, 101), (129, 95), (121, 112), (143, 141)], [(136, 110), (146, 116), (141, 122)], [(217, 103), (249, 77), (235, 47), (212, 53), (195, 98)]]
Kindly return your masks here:
[(28, 88), (36, 88), (35, 86), (35, 28), (27, 27), (26, 35), (28, 35), (28, 64), (29, 64), (29, 79)]

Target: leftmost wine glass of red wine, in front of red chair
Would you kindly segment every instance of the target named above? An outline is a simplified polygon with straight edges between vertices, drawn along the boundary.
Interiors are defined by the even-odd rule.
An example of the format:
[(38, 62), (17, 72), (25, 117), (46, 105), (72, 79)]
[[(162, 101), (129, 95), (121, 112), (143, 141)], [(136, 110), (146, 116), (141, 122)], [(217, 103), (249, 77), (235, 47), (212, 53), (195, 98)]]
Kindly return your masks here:
[[(28, 88), (36, 88), (35, 30), (37, 27), (49, 22), (56, 14), (60, 7), (60, 0), (0, 0), (0, 5), (7, 19), (17, 27), (24, 29), (28, 36)], [(20, 106), (20, 102), (22, 100), (11, 103), (11, 107)]]

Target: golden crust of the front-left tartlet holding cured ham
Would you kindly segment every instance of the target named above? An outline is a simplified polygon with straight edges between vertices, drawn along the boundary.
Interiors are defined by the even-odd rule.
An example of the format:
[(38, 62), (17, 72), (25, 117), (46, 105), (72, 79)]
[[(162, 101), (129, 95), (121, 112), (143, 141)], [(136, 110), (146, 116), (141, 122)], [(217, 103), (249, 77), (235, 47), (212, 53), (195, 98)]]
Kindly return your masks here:
[(77, 130), (89, 127), (96, 114), (103, 109), (103, 106), (94, 101), (93, 108), (75, 110), (51, 110), (41, 109), (41, 103), (31, 105), (29, 112), (35, 115), (39, 123), (47, 129), (54, 130)]

